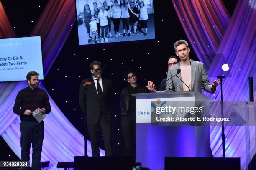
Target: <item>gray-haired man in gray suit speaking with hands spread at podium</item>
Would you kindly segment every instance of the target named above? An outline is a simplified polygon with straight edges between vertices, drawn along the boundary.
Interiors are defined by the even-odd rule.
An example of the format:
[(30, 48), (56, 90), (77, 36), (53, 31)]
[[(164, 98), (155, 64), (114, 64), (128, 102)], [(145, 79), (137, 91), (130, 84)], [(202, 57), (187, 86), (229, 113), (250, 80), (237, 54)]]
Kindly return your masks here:
[[(204, 89), (209, 93), (215, 93), (220, 81), (213, 81), (210, 84), (203, 63), (189, 59), (190, 48), (187, 41), (177, 41), (174, 43), (174, 49), (180, 62), (168, 69), (166, 90), (159, 92), (197, 91), (202, 93)], [(148, 81), (146, 87), (151, 92), (158, 92), (154, 89), (153, 81)]]

